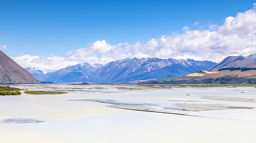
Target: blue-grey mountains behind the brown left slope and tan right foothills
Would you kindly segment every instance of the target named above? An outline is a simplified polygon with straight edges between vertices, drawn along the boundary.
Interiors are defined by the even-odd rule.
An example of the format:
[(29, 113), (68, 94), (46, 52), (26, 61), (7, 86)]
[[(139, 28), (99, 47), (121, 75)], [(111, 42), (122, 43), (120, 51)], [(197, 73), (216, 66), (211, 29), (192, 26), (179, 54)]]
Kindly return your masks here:
[(137, 83), (143, 80), (185, 76), (200, 70), (207, 71), (227, 67), (256, 68), (255, 61), (256, 54), (247, 57), (242, 55), (229, 56), (219, 64), (212, 61), (195, 61), (191, 59), (127, 58), (112, 61), (105, 65), (82, 63), (57, 71), (46, 71), (32, 67), (26, 69), (42, 82)]

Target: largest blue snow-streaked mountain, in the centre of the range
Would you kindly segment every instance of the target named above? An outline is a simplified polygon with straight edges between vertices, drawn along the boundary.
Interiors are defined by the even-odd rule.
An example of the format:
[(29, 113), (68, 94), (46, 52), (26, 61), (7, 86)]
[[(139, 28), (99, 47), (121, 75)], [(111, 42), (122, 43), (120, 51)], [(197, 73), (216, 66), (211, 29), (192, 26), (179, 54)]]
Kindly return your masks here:
[(112, 61), (95, 70), (88, 78), (81, 77), (81, 79), (94, 83), (161, 79), (168, 76), (182, 76), (203, 69), (207, 70), (215, 64), (211, 61), (190, 59), (132, 58)]

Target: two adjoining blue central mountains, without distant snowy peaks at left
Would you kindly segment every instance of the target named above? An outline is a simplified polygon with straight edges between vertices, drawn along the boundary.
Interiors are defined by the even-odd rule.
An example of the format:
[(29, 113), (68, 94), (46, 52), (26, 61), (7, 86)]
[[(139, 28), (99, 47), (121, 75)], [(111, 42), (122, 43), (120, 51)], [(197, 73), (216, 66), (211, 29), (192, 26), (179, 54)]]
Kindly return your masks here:
[(132, 80), (183, 76), (215, 66), (212, 61), (176, 60), (173, 58), (127, 58), (105, 64), (77, 64), (55, 71), (46, 80), (53, 83), (119, 83)]

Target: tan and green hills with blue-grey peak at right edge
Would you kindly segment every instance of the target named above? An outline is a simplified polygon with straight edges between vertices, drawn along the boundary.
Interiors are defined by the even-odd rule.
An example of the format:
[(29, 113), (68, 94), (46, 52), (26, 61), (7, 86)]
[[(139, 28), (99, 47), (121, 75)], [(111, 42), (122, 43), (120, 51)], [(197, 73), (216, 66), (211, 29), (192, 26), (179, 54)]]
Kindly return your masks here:
[[(255, 54), (254, 54), (255, 55)], [(200, 70), (185, 76), (150, 80), (143, 83), (160, 84), (244, 84), (256, 83), (255, 56), (229, 56), (208, 71)], [(251, 59), (253, 58), (253, 59)]]

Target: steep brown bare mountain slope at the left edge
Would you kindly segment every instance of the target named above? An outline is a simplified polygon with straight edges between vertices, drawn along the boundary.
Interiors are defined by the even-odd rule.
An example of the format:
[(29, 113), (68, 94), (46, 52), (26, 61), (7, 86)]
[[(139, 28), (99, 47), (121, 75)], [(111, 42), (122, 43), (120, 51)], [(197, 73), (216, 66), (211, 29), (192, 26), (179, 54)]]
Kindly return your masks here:
[(0, 50), (0, 83), (28, 84), (40, 82)]

